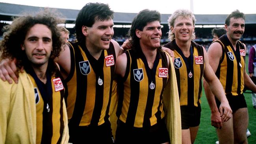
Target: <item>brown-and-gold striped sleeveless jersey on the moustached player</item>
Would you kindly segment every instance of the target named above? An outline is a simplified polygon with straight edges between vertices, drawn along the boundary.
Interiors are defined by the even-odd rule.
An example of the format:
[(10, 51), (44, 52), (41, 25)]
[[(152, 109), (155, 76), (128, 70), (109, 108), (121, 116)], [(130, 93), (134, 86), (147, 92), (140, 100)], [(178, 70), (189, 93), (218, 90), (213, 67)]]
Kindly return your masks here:
[(222, 47), (222, 56), (215, 74), (221, 81), (225, 93), (232, 94), (232, 96), (242, 94), (245, 47), (242, 42), (238, 41), (235, 50), (226, 35), (221, 36), (214, 42), (219, 42)]

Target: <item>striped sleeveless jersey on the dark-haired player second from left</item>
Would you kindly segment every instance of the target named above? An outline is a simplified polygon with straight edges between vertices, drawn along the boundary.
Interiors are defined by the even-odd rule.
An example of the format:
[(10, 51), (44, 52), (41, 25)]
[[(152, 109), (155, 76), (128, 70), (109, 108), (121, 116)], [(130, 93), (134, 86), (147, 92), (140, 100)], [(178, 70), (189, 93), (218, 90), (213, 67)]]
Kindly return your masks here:
[(96, 60), (85, 47), (69, 43), (71, 70), (67, 81), (69, 125), (99, 126), (109, 118), (109, 105), (115, 72), (115, 49), (110, 42)]

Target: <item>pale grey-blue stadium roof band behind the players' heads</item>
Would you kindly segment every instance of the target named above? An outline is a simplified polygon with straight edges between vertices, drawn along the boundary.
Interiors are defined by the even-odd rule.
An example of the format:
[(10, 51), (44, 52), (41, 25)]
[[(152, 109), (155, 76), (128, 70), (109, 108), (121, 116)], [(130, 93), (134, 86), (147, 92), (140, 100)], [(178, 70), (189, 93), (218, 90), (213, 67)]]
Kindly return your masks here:
[[(35, 13), (43, 9), (43, 7), (35, 6), (24, 6), (18, 4), (8, 4), (0, 2), (0, 20), (10, 21), (11, 17), (20, 16), (22, 13)], [(56, 9), (56, 8), (50, 8)], [(74, 23), (76, 20), (76, 15), (79, 10), (74, 9), (57, 9), (63, 14), (67, 23)], [(132, 19), (137, 13), (115, 13), (114, 23), (115, 24), (131, 24)], [(167, 19), (170, 14), (161, 15), (161, 24), (167, 24)], [(211, 25), (211, 24), (224, 24), (227, 15), (195, 15), (197, 25)], [(256, 24), (256, 14), (245, 14), (246, 20), (245, 24)]]

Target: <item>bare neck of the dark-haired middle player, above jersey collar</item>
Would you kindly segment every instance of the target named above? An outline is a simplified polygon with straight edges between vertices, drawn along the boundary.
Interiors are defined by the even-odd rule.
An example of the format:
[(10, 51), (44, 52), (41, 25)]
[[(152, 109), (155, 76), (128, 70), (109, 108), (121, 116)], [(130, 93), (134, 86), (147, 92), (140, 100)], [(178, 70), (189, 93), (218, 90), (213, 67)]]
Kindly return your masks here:
[(149, 68), (152, 69), (154, 61), (156, 59), (157, 48), (148, 48), (146, 46), (141, 46), (141, 50), (147, 59)]

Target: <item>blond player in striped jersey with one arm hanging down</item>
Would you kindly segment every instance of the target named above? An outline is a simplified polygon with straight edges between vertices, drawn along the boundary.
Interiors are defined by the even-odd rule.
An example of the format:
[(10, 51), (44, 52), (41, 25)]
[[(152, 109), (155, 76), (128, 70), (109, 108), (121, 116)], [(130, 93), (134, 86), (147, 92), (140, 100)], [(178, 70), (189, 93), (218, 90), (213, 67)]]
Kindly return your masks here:
[(212, 121), (211, 125), (221, 128), (221, 120), (229, 120), (232, 114), (221, 83), (214, 76), (209, 65), (206, 50), (193, 41), (195, 39), (195, 21), (195, 15), (191, 11), (176, 10), (168, 19), (171, 42), (164, 45), (174, 51), (174, 67), (182, 119), (182, 144), (193, 144), (197, 136), (201, 116), (200, 98), (203, 76), (221, 101), (220, 121)]

